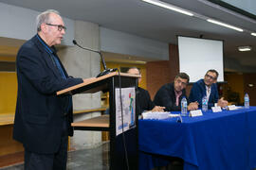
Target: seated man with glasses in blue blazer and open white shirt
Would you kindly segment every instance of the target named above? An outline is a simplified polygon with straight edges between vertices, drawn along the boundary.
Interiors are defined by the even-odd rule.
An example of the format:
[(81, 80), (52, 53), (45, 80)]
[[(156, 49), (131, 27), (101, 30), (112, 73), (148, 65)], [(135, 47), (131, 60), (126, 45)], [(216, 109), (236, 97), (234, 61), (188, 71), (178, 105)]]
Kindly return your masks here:
[(218, 76), (219, 73), (216, 70), (211, 69), (207, 71), (204, 79), (202, 78), (193, 84), (190, 93), (190, 101), (198, 102), (199, 108), (202, 108), (202, 98), (207, 96), (209, 109), (214, 107), (215, 103), (222, 108), (227, 107), (228, 101), (224, 100), (223, 97), (219, 99), (216, 84)]

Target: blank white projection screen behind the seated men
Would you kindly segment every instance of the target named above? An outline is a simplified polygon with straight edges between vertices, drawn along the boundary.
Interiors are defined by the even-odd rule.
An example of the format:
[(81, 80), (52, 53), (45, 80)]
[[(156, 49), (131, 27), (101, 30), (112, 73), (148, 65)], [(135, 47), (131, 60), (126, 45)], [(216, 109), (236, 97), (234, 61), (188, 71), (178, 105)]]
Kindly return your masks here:
[(179, 71), (187, 73), (196, 82), (210, 69), (218, 73), (218, 82), (224, 81), (223, 41), (178, 36)]

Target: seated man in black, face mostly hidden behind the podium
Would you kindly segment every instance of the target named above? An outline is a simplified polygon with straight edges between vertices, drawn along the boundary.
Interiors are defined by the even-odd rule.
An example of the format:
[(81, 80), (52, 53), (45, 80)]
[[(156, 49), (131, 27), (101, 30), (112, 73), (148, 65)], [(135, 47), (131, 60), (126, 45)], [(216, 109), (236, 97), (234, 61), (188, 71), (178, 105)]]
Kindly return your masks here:
[[(127, 73), (131, 75), (140, 75), (137, 67), (131, 67)], [(140, 82), (140, 80), (141, 77), (138, 79), (138, 82)], [(164, 111), (164, 107), (155, 106), (155, 103), (151, 100), (149, 92), (140, 87), (137, 87), (137, 98), (138, 114), (141, 114), (143, 111)]]

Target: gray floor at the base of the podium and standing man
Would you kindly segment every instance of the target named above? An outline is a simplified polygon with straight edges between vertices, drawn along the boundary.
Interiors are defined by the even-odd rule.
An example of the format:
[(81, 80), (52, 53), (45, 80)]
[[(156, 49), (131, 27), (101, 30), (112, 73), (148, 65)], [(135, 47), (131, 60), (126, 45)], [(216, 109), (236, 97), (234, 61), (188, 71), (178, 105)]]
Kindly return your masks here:
[[(99, 147), (68, 152), (67, 170), (108, 170), (109, 143)], [(1, 170), (24, 170), (23, 164), (17, 164)]]

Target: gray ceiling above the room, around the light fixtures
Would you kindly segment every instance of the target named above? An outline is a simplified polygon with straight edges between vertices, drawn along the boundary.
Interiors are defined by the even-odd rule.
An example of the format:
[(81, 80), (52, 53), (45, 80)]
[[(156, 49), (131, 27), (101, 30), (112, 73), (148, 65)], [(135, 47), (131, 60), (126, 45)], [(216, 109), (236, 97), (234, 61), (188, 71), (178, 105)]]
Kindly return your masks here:
[[(54, 8), (70, 19), (93, 22), (110, 29), (161, 42), (177, 43), (176, 35), (223, 40), (225, 58), (237, 59), (244, 66), (256, 66), (256, 21), (209, 3), (207, 0), (164, 0), (196, 12), (190, 17), (140, 0), (0, 0), (2, 3), (44, 11)], [(238, 32), (205, 21), (210, 17), (246, 29)], [(240, 45), (252, 46), (250, 52), (238, 52)]]

